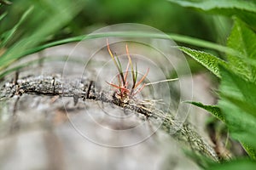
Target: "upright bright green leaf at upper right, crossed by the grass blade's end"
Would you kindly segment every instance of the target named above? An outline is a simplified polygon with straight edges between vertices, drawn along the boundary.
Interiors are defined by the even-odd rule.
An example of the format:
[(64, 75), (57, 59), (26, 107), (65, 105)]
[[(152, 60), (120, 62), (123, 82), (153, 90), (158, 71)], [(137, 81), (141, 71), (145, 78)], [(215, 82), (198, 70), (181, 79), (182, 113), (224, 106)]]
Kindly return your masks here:
[(243, 77), (247, 77), (247, 80), (256, 82), (256, 65), (252, 65), (249, 60), (256, 59), (256, 34), (241, 20), (235, 19), (227, 46), (236, 49), (242, 56), (241, 58), (232, 54), (227, 56), (230, 69)]

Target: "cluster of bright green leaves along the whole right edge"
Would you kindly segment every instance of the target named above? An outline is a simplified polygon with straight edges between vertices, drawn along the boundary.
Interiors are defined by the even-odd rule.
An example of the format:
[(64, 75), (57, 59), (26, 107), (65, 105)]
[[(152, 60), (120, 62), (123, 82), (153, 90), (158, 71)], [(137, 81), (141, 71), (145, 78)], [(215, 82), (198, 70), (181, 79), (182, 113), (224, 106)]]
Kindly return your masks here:
[[(217, 116), (229, 128), (230, 135), (241, 142), (248, 156), (256, 160), (256, 2), (242, 0), (179, 0), (183, 7), (212, 14), (233, 16), (234, 26), (227, 40), (225, 60), (212, 54), (181, 48), (221, 79), (218, 106), (189, 102)], [(252, 160), (234, 160), (216, 164), (210, 169), (254, 169)]]

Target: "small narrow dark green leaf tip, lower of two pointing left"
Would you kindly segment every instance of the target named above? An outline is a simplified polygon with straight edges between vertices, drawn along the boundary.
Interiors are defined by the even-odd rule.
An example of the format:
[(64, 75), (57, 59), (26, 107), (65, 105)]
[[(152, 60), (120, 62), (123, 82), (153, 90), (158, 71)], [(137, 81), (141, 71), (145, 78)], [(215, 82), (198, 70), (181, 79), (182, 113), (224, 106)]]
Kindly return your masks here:
[(220, 111), (220, 108), (218, 107), (218, 105), (203, 105), (201, 102), (195, 102), (195, 101), (186, 101), (186, 103), (201, 107), (202, 109), (209, 111), (210, 113), (212, 113), (213, 116), (216, 116), (219, 120), (224, 122), (224, 116)]

